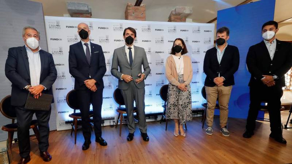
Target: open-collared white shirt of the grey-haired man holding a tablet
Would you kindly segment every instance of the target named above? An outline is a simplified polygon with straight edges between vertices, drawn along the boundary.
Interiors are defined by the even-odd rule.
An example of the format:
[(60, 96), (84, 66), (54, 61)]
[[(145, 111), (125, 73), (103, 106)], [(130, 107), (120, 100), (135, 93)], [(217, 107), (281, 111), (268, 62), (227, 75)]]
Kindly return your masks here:
[[(28, 48), (26, 45), (25, 48), (29, 63), (30, 85), (37, 86), (39, 85), (39, 80), (41, 76), (41, 58), (39, 56), (39, 50), (41, 50), (41, 48), (39, 47), (39, 50), (37, 50), (36, 52), (32, 52), (32, 50), (30, 50), (30, 48)], [(46, 87), (43, 87), (46, 90)]]

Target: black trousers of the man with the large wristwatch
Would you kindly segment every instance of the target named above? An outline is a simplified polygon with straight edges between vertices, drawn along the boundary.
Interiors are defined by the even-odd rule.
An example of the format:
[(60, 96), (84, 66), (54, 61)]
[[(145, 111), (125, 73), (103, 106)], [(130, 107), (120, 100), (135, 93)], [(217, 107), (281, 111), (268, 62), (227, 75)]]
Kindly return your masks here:
[(281, 135), (281, 96), (282, 87), (280, 86), (251, 86), (250, 104), (246, 122), (246, 130), (253, 131), (256, 126), (256, 118), (262, 101), (267, 101), (267, 108), (270, 116), (271, 132), (274, 135)]

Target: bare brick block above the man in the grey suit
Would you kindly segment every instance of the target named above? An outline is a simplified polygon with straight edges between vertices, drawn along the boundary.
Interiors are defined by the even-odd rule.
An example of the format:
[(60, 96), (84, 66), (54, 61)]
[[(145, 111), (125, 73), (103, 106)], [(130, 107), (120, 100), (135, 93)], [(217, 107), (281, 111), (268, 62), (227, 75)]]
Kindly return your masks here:
[(145, 4), (134, 6), (128, 3), (125, 10), (125, 20), (146, 20)]

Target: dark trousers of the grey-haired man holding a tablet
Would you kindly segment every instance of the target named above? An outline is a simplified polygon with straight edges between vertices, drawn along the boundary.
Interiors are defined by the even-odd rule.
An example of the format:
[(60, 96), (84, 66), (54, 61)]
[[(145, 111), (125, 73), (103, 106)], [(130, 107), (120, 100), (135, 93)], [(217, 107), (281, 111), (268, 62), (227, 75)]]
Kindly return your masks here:
[(26, 110), (24, 106), (15, 107), (17, 117), (17, 137), (19, 154), (22, 158), (29, 156), (30, 142), (29, 142), (29, 127), (32, 122), (32, 116), (35, 113), (38, 120), (39, 129), (39, 151), (47, 151), (49, 147), (49, 119), (51, 109), (49, 111)]

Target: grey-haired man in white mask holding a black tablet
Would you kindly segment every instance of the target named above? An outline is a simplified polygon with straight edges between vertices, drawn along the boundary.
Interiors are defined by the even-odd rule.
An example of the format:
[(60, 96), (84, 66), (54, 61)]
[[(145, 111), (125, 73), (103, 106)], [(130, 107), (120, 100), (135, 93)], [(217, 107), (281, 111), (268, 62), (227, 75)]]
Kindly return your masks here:
[(24, 27), (22, 37), (25, 46), (13, 47), (8, 50), (5, 64), (5, 75), (12, 83), (11, 105), (15, 107), (17, 116), (17, 136), (19, 163), (30, 161), (29, 127), (35, 113), (39, 128), (39, 150), (44, 161), (51, 160), (48, 153), (49, 111), (26, 110), (27, 96), (33, 94), (39, 98), (42, 93), (53, 95), (52, 85), (57, 78), (52, 54), (39, 47), (39, 32), (34, 27)]

